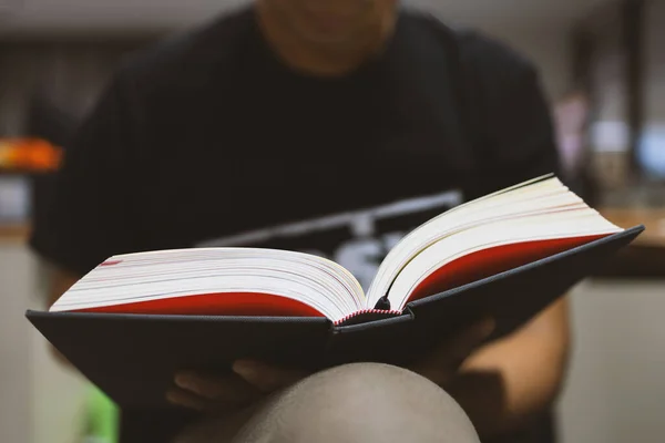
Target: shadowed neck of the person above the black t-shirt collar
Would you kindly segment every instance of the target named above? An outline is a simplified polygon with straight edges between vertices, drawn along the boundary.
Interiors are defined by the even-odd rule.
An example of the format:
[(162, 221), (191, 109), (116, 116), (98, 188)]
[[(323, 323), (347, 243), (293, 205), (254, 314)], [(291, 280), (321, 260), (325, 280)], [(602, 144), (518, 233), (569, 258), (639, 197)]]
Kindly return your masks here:
[(264, 2), (256, 3), (259, 28), (279, 59), (295, 71), (317, 76), (342, 76), (376, 56), (392, 35), (397, 13), (377, 16), (352, 45), (317, 45), (296, 35)]

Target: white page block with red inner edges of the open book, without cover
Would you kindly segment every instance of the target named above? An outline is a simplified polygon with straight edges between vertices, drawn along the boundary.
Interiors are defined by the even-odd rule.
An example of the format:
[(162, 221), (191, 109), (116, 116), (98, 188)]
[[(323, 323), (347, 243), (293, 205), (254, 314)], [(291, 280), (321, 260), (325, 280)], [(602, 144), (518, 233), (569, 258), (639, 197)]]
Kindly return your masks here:
[(327, 317), (405, 306), (622, 231), (555, 177), (471, 202), (415, 229), (364, 293), (341, 266), (274, 249), (204, 248), (111, 257), (51, 311)]

